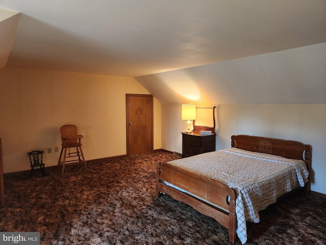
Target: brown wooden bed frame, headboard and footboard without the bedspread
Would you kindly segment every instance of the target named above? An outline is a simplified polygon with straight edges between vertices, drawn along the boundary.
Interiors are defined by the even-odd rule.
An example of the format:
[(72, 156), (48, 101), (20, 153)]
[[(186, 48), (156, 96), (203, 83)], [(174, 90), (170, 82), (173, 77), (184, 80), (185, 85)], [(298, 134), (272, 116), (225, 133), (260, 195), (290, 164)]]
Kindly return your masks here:
[[(233, 135), (231, 137), (231, 146), (252, 152), (301, 159), (305, 161), (309, 172), (311, 169), (312, 147), (309, 144), (250, 135)], [(202, 214), (214, 218), (221, 225), (229, 229), (230, 242), (235, 243), (237, 239), (235, 189), (229, 188), (219, 181), (208, 179), (179, 167), (174, 167), (169, 163), (160, 162), (157, 163), (156, 181), (156, 198), (161, 197), (164, 193), (169, 194), (172, 198), (192, 206)], [(162, 181), (169, 182), (193, 193), (199, 198), (170, 187), (162, 183)], [(310, 184), (309, 177), (304, 187), (306, 195), (310, 194)]]

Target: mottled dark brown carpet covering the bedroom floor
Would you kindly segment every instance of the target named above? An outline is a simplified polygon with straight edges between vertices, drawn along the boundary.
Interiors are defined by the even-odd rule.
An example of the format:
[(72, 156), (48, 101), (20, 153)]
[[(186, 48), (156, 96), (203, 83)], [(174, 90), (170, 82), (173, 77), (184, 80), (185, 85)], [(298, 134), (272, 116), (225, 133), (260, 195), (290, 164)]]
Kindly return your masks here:
[[(41, 244), (230, 244), (214, 219), (168, 195), (154, 198), (156, 163), (175, 158), (108, 159), (88, 171), (68, 166), (64, 177), (56, 167), (45, 177), (5, 175), (0, 231), (38, 231)], [(248, 223), (247, 244), (326, 244), (325, 209), (325, 199), (292, 194)]]

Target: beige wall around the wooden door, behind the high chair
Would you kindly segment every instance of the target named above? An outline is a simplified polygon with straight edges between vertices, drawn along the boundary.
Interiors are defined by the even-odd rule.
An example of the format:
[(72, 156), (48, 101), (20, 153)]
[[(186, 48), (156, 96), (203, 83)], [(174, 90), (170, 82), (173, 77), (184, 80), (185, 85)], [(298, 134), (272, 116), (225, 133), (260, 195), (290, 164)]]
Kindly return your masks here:
[[(27, 152), (52, 149), (56, 165), (60, 127), (75, 124), (87, 160), (126, 154), (125, 94), (149, 94), (133, 78), (53, 70), (0, 69), (0, 137), (4, 172), (30, 169)], [(161, 105), (154, 98), (154, 150), (161, 149)]]

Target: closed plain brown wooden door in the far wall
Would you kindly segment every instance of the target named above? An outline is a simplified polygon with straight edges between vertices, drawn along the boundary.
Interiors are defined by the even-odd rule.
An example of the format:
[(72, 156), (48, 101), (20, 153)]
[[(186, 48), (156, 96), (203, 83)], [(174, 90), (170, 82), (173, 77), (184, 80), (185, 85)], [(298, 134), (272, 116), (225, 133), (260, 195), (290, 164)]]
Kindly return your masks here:
[(153, 96), (126, 94), (127, 155), (153, 152)]

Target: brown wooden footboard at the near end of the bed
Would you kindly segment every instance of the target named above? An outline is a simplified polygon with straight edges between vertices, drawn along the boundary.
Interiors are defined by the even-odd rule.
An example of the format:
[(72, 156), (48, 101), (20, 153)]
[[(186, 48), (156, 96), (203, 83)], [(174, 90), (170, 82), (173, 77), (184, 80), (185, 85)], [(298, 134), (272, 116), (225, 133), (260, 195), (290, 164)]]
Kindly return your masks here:
[[(229, 229), (230, 242), (236, 241), (236, 192), (219, 181), (208, 179), (169, 163), (157, 163), (156, 197), (169, 194), (175, 200), (192, 206), (197, 211), (214, 218)], [(179, 191), (164, 182), (193, 193)], [(208, 201), (209, 203), (205, 202)]]

